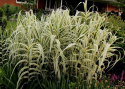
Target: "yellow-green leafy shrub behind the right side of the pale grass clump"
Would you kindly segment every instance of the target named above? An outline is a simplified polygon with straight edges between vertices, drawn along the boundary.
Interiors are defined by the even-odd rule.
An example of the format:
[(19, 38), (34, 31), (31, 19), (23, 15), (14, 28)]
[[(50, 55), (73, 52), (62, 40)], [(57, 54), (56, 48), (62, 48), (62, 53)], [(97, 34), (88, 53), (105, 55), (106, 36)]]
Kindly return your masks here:
[[(111, 15), (108, 16), (107, 20), (107, 28), (110, 28), (110, 31), (116, 34), (118, 37), (122, 38), (122, 43), (118, 44), (120, 47), (125, 49), (125, 22), (121, 19), (120, 16)], [(123, 51), (121, 51), (123, 52)], [(124, 54), (124, 53), (122, 53)], [(123, 62), (125, 61), (125, 57), (123, 58)]]

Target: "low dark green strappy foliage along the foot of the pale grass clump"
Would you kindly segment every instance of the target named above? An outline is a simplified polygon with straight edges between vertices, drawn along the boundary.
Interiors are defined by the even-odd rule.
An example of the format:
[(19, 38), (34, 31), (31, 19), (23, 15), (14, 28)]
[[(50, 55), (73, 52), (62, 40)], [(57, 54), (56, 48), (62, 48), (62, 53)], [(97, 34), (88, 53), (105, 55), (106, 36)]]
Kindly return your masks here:
[[(110, 80), (103, 76), (100, 80), (92, 80), (92, 83), (88, 83), (85, 80), (75, 77), (62, 76), (61, 81), (58, 81), (56, 77), (50, 79), (40, 80), (38, 78), (32, 81), (24, 89), (114, 89), (117, 87), (115, 83), (110, 83)], [(34, 86), (35, 85), (35, 86)], [(123, 86), (119, 86), (122, 88)]]

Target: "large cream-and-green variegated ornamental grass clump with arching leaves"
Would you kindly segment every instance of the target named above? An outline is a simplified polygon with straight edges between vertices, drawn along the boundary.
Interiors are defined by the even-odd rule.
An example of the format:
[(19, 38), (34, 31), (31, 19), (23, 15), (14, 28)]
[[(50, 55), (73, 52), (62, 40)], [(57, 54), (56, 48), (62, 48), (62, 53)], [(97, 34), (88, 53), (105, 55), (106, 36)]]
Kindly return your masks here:
[[(59, 80), (62, 75), (97, 80), (105, 68), (119, 61), (120, 56), (114, 53), (119, 47), (113, 45), (117, 36), (105, 27), (101, 29), (105, 16), (93, 14), (86, 7), (87, 1), (81, 16), (79, 12), (70, 16), (69, 10), (57, 9), (40, 21), (32, 11), (19, 13), (16, 30), (7, 39), (8, 62), (14, 66), (13, 72), (19, 70), (17, 88), (49, 74)], [(108, 60), (111, 57), (115, 58), (112, 65)]]

